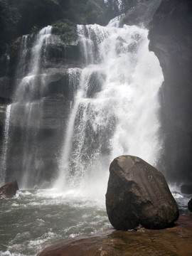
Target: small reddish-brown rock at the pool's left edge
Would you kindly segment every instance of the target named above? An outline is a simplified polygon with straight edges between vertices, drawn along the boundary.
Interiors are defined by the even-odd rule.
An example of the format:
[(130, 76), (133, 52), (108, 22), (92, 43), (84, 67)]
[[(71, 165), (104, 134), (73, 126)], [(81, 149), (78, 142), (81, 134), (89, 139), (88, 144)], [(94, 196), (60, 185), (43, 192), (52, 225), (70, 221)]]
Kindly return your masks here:
[(0, 199), (9, 199), (16, 196), (18, 184), (16, 181), (11, 181), (0, 188)]

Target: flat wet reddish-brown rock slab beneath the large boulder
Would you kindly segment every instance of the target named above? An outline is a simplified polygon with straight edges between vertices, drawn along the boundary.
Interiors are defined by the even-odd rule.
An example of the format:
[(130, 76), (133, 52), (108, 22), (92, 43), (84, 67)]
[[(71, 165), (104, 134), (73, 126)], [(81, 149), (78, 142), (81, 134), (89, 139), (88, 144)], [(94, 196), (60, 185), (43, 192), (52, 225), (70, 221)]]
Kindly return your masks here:
[(181, 215), (178, 225), (141, 232), (108, 230), (64, 240), (38, 256), (191, 256), (192, 216)]

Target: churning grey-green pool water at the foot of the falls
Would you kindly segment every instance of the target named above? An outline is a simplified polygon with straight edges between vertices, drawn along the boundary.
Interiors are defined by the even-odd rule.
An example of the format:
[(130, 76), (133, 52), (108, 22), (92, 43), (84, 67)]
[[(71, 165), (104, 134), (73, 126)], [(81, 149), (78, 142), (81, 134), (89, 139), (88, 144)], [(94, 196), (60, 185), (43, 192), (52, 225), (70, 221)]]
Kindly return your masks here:
[[(180, 212), (189, 214), (190, 196), (173, 189)], [(4, 256), (37, 255), (65, 238), (112, 228), (105, 198), (83, 191), (18, 191), (15, 198), (0, 203), (0, 255)]]

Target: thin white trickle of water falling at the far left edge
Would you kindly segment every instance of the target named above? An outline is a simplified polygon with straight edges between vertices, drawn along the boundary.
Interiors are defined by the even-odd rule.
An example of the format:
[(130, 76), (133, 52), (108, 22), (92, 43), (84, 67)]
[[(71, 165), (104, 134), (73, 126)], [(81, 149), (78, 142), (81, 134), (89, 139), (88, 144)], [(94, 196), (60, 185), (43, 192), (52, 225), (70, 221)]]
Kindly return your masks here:
[(3, 149), (1, 153), (1, 170), (0, 170), (0, 187), (4, 185), (6, 180), (6, 153), (9, 142), (9, 122), (11, 115), (11, 105), (6, 107), (6, 119), (5, 119), (5, 128), (4, 128), (4, 141)]

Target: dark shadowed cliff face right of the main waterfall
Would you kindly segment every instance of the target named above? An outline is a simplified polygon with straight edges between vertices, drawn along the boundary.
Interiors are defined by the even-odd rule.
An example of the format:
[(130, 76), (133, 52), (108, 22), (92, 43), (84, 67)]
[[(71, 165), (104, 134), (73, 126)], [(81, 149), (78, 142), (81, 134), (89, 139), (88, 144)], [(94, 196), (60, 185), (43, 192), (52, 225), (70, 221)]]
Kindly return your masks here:
[[(172, 181), (192, 178), (192, 2), (163, 0), (149, 23), (149, 49), (164, 73), (161, 122), (164, 171)], [(161, 163), (161, 164), (162, 164)]]

